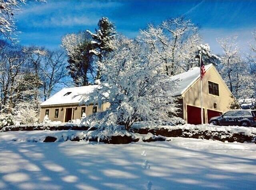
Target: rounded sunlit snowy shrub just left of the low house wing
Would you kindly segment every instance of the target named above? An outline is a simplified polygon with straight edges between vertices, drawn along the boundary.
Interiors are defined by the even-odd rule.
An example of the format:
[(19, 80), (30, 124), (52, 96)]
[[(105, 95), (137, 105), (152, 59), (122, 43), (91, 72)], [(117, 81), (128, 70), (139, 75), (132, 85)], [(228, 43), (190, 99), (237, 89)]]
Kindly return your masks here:
[(38, 112), (33, 108), (24, 107), (19, 108), (16, 112), (15, 120), (20, 124), (34, 124), (39, 120)]

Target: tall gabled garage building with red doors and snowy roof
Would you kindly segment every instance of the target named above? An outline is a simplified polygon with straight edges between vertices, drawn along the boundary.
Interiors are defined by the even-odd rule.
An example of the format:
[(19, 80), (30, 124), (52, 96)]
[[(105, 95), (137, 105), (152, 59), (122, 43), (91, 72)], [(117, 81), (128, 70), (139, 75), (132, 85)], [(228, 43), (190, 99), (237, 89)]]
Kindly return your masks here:
[[(240, 106), (214, 65), (206, 65), (205, 69), (202, 79), (203, 119), (208, 123), (210, 118)], [(178, 117), (190, 124), (201, 124), (200, 68), (194, 67), (172, 76), (172, 79), (179, 80), (174, 92), (180, 104)]]

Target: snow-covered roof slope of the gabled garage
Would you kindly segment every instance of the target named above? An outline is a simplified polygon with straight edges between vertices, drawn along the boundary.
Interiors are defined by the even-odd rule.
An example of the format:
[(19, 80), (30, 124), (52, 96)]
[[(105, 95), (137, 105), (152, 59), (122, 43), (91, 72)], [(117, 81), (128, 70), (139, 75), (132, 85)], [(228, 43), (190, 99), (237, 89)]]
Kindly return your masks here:
[[(212, 64), (205, 65), (205, 70), (207, 71), (210, 67), (212, 67)], [(174, 90), (173, 95), (178, 96), (183, 94), (199, 77), (200, 67), (193, 67), (187, 72), (172, 76), (172, 80), (180, 80), (177, 88)]]

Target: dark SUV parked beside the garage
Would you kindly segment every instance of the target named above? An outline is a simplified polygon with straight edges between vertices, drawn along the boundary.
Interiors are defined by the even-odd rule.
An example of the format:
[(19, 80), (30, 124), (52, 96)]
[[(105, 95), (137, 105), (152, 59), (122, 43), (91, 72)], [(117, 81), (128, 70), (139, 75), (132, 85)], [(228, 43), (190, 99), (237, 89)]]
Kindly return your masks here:
[(239, 125), (256, 127), (256, 110), (233, 110), (222, 116), (213, 117), (209, 121), (212, 125)]

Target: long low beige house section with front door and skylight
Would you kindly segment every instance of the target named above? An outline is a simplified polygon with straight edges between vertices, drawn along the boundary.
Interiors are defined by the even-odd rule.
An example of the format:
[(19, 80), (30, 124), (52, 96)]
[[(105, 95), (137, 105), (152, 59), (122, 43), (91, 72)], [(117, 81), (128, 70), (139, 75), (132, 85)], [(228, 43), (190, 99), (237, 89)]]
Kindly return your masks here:
[(40, 104), (39, 122), (42, 122), (46, 115), (52, 121), (68, 122), (73, 119), (81, 119), (84, 113), (88, 116), (106, 110), (109, 106), (108, 103), (102, 104), (101, 107), (94, 106), (94, 104), (80, 106), (82, 96), (85, 95), (84, 97), (86, 97), (86, 94), (89, 94), (97, 87), (98, 85), (63, 88)]

